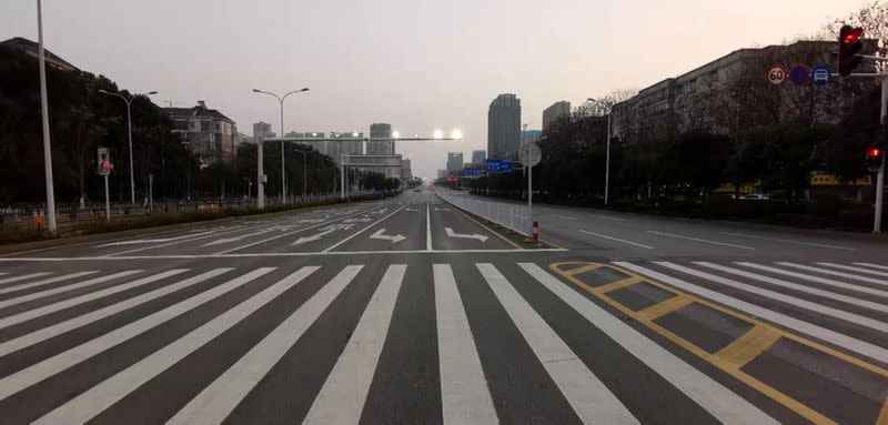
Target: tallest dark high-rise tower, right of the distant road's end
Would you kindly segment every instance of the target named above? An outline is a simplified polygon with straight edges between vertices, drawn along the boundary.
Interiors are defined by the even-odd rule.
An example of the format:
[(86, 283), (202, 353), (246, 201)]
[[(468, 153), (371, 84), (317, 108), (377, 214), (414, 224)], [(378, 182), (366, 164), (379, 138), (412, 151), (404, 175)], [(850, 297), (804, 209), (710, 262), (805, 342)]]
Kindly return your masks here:
[(500, 94), (487, 110), (487, 156), (517, 159), (521, 142), (521, 99)]

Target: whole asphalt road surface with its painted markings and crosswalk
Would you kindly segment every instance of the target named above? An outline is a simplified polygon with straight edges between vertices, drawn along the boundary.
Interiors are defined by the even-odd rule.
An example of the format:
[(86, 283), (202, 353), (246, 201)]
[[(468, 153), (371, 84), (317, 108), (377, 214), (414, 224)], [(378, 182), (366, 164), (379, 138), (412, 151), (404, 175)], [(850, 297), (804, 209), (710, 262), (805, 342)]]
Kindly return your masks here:
[(3, 255), (0, 423), (888, 424), (885, 237), (535, 212), (557, 247), (426, 190)]

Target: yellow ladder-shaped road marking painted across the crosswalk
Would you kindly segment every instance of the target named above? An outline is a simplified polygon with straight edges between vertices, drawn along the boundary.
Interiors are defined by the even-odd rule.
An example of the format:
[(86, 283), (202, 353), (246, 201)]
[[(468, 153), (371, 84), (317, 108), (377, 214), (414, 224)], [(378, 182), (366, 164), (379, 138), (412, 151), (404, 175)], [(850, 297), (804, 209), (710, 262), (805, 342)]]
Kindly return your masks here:
[[(573, 272), (573, 270), (567, 270), (567, 271), (562, 271), (561, 270), (562, 266), (576, 265), (576, 264), (587, 264), (589, 266), (595, 265), (595, 267), (592, 269), (592, 270), (607, 267), (607, 269), (610, 269), (610, 270), (614, 270), (614, 271), (617, 271), (617, 272), (620, 272), (620, 273), (625, 273), (626, 275), (632, 276), (632, 277), (623, 279), (623, 280), (619, 280), (617, 282), (613, 282), (613, 283), (609, 283), (609, 284), (606, 284), (606, 285), (603, 285), (603, 286), (593, 287), (593, 286), (589, 286), (588, 284), (586, 284), (585, 282), (576, 279), (576, 276), (574, 274), (571, 274), (571, 272)], [(745, 314), (740, 314), (740, 313), (737, 313), (735, 311), (728, 310), (728, 308), (723, 307), (720, 305), (710, 303), (710, 302), (708, 302), (706, 300), (696, 297), (696, 296), (690, 295), (690, 294), (686, 294), (684, 292), (679, 292), (679, 291), (674, 290), (673, 287), (667, 286), (667, 285), (665, 285), (665, 284), (663, 284), (660, 282), (657, 282), (657, 281), (654, 281), (652, 279), (645, 277), (645, 276), (643, 276), (640, 274), (637, 274), (637, 273), (629, 272), (627, 270), (624, 270), (623, 267), (617, 267), (615, 265), (601, 264), (601, 263), (565, 262), (565, 263), (551, 264), (549, 269), (552, 271), (554, 271), (555, 273), (559, 274), (562, 277), (564, 277), (564, 279), (571, 281), (572, 283), (576, 284), (577, 286), (582, 287), (586, 292), (597, 296), (599, 300), (606, 302), (608, 305), (610, 305), (614, 308), (618, 310), (620, 313), (623, 313), (623, 314), (625, 314), (625, 315), (627, 315), (629, 317), (635, 318), (639, 323), (646, 325), (652, 331), (665, 336), (666, 338), (668, 338), (669, 341), (672, 341), (676, 345), (680, 346), (682, 348), (687, 350), (688, 352), (697, 355), (698, 357), (709, 362), (714, 366), (720, 368), (725, 373), (731, 375), (733, 377), (735, 377), (736, 380), (738, 380), (738, 381), (743, 382), (744, 384), (748, 385), (753, 389), (755, 389), (755, 391), (757, 391), (757, 392), (770, 397), (775, 402), (786, 406), (787, 408), (791, 409), (793, 412), (795, 412), (799, 416), (803, 416), (806, 419), (808, 419), (808, 421), (810, 421), (810, 422), (813, 422), (815, 424), (836, 424), (836, 422), (830, 419), (830, 418), (828, 418), (828, 417), (826, 417), (826, 416), (824, 416), (823, 414), (820, 414), (819, 412), (815, 411), (814, 408), (811, 408), (811, 407), (809, 407), (809, 406), (796, 401), (795, 398), (781, 393), (780, 391), (771, 387), (770, 385), (757, 380), (756, 377), (743, 372), (740, 370), (740, 367), (744, 364), (746, 364), (749, 361), (751, 361), (753, 358), (755, 358), (756, 356), (758, 356), (759, 354), (761, 354), (763, 352), (765, 352), (777, 340), (779, 340), (781, 337), (785, 337), (785, 338), (788, 338), (788, 340), (793, 340), (793, 341), (795, 341), (795, 342), (797, 342), (799, 344), (807, 345), (807, 346), (809, 346), (809, 347), (811, 347), (814, 350), (817, 350), (817, 351), (819, 351), (821, 353), (826, 353), (826, 354), (829, 354), (829, 355), (831, 355), (834, 357), (838, 357), (838, 358), (840, 358), (840, 360), (842, 360), (845, 362), (851, 363), (851, 364), (854, 364), (854, 365), (856, 365), (858, 367), (861, 367), (861, 368), (865, 368), (867, 371), (874, 372), (874, 373), (876, 373), (876, 374), (878, 374), (878, 375), (880, 375), (882, 377), (888, 377), (888, 371), (886, 371), (886, 370), (884, 370), (884, 368), (881, 368), (881, 367), (879, 367), (877, 365), (867, 363), (865, 361), (861, 361), (861, 360), (852, 357), (852, 356), (850, 356), (848, 354), (838, 352), (838, 351), (836, 351), (834, 348), (830, 348), (830, 347), (825, 346), (823, 344), (819, 344), (819, 343), (816, 343), (814, 341), (804, 338), (801, 336), (798, 336), (798, 335), (795, 335), (795, 334), (790, 334), (790, 333), (785, 332), (785, 331), (783, 331), (783, 330), (780, 330), (778, 327), (775, 327), (775, 326), (773, 326), (770, 324), (767, 324), (767, 323), (761, 322), (759, 320), (753, 318), (753, 317), (747, 316)], [(574, 270), (577, 270), (577, 269), (574, 269)], [(662, 317), (663, 314), (662, 315), (656, 315), (656, 317), (654, 317), (654, 318), (650, 318), (648, 316), (648, 315), (650, 315), (650, 313), (643, 314), (645, 311), (657, 312), (659, 308), (669, 310), (668, 312), (665, 313), (665, 314), (668, 314), (670, 312), (674, 312), (674, 311), (678, 310), (678, 308), (675, 308), (675, 305), (672, 305), (672, 304), (682, 304), (682, 303), (684, 303), (684, 301), (680, 301), (680, 302), (679, 301), (674, 301), (675, 297), (673, 297), (670, 300), (664, 301), (663, 303), (652, 305), (650, 307), (645, 308), (645, 310), (643, 310), (640, 312), (634, 312), (630, 308), (626, 307), (625, 305), (623, 305), (623, 304), (616, 302), (615, 300), (610, 298), (609, 296), (607, 296), (605, 294), (605, 292), (607, 292), (607, 291), (602, 291), (603, 289), (607, 289), (608, 286), (615, 285), (615, 284), (623, 284), (623, 286), (626, 286), (625, 282), (633, 282), (633, 284), (634, 283), (638, 283), (638, 282), (644, 282), (646, 284), (650, 284), (650, 285), (657, 286), (657, 287), (659, 287), (662, 290), (665, 290), (665, 291), (668, 291), (668, 292), (672, 292), (672, 293), (676, 294), (676, 297), (680, 297), (683, 300), (690, 300), (690, 302), (699, 303), (699, 304), (705, 305), (705, 306), (707, 306), (709, 308), (713, 308), (713, 310), (719, 311), (722, 313), (728, 314), (730, 316), (737, 317), (739, 320), (743, 320), (743, 321), (751, 324), (753, 328), (750, 331), (748, 331), (746, 334), (744, 334), (743, 336), (740, 336), (739, 338), (735, 340), (733, 343), (728, 344), (726, 347), (722, 348), (722, 351), (719, 351), (718, 353), (712, 354), (712, 353), (700, 348), (699, 346), (693, 344), (692, 342), (685, 340), (684, 337), (675, 334), (674, 332), (672, 332), (672, 331), (669, 331), (669, 330), (656, 324), (654, 322), (654, 318)], [(667, 306), (658, 307), (658, 305), (664, 304), (664, 303), (668, 303)], [(657, 310), (650, 310), (650, 308), (657, 308)], [(879, 419), (877, 421), (876, 424), (877, 425), (888, 425), (888, 399), (886, 399), (886, 405), (882, 406), (882, 412), (879, 415)]]

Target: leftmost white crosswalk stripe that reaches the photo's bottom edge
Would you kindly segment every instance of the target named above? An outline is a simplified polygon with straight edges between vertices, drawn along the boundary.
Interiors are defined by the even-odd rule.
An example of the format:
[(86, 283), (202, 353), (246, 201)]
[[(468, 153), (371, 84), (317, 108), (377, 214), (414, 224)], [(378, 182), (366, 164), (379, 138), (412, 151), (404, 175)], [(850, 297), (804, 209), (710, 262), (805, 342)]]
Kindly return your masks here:
[(32, 422), (32, 424), (53, 425), (62, 423), (87, 423), (102, 413), (102, 411), (111, 407), (111, 405), (127, 396), (127, 394), (132, 393), (142, 384), (160, 375), (163, 371), (172, 367), (189, 354), (198, 351), (198, 348), (222, 335), (225, 331), (234, 327), (234, 325), (255, 313), (259, 308), (262, 308), (278, 298), (291, 287), (302, 282), (302, 280), (314, 273), (317, 269), (320, 267), (306, 266), (293, 272), (289, 276), (229, 308), (210, 322), (204, 323), (163, 348), (151, 353), (148, 357), (142, 358), (108, 380), (104, 380), (89, 391), (81, 393), (36, 422)]

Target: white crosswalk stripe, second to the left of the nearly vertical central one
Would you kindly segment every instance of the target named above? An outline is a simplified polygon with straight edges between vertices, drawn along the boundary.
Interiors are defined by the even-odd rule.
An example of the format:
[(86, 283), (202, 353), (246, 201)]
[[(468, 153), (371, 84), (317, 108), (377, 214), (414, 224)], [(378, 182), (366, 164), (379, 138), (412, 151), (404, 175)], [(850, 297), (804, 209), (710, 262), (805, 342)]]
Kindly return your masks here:
[(333, 303), (363, 265), (345, 266), (167, 424), (221, 424)]

